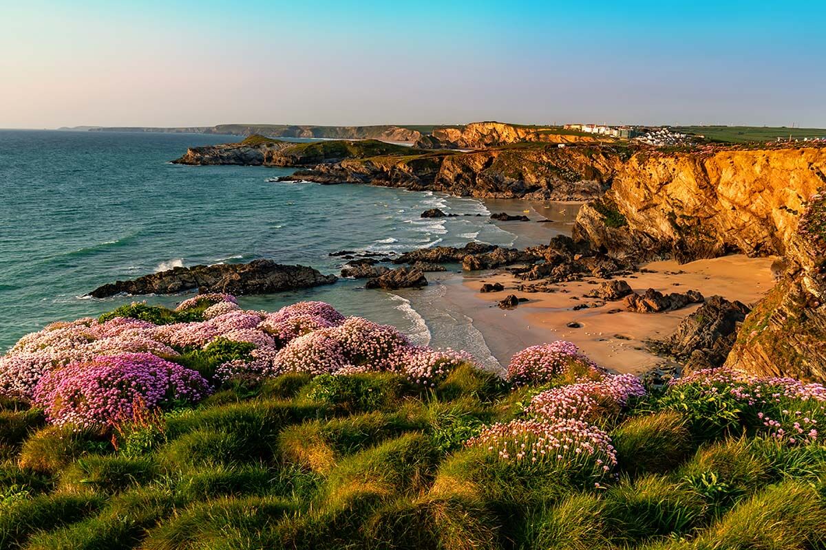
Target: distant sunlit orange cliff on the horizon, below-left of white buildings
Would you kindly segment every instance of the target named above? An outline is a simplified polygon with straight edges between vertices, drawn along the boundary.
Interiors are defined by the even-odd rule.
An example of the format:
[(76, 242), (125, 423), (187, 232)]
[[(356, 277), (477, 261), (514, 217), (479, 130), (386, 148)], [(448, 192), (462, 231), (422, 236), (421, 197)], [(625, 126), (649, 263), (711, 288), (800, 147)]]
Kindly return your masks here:
[[(591, 135), (563, 133), (563, 130), (541, 126), (509, 125), (501, 122), (472, 122), (460, 127), (435, 128), (432, 136), (441, 147), (478, 149), (525, 141), (544, 143), (576, 143), (600, 141)], [(603, 142), (613, 141), (610, 138)], [(431, 147), (433, 144), (431, 143)]]

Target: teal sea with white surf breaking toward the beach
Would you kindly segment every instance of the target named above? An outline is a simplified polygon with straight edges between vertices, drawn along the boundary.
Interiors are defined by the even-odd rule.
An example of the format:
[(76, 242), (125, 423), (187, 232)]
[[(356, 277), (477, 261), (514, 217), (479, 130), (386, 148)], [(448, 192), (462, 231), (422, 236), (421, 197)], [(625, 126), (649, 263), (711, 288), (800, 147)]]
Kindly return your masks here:
[[(55, 320), (98, 315), (135, 299), (177, 303), (181, 296), (83, 296), (101, 284), (172, 266), (266, 257), (337, 274), (341, 261), (329, 256), (332, 251), (515, 241), (475, 199), (267, 181), (292, 172), (284, 168), (169, 163), (189, 146), (238, 139), (0, 130), (0, 350)], [(420, 219), (434, 207), (482, 217)], [(421, 343), (439, 330), (428, 327), (407, 299), (363, 289), (363, 280), (245, 297), (241, 305), (274, 310), (301, 299), (391, 323)], [(457, 347), (486, 355), (483, 341), (451, 330), (461, 333)]]

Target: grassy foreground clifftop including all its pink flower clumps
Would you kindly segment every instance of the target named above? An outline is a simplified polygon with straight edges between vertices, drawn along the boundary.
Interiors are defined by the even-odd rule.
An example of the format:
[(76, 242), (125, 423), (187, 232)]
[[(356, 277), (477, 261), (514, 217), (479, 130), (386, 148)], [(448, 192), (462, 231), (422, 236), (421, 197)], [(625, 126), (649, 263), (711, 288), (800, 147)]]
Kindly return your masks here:
[(499, 378), (327, 304), (211, 295), (55, 323), (0, 388), (2, 548), (826, 543), (817, 384), (643, 384), (567, 342)]

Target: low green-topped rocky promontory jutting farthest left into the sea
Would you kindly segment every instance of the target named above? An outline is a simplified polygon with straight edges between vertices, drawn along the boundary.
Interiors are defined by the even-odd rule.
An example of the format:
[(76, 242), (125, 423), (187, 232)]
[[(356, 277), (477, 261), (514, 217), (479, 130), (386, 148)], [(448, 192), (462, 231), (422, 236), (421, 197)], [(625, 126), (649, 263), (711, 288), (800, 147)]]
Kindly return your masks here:
[(415, 153), (409, 147), (375, 139), (292, 143), (252, 135), (240, 143), (193, 147), (176, 164), (240, 164), (244, 166), (308, 167), (339, 162), (345, 158), (367, 158), (388, 154)]

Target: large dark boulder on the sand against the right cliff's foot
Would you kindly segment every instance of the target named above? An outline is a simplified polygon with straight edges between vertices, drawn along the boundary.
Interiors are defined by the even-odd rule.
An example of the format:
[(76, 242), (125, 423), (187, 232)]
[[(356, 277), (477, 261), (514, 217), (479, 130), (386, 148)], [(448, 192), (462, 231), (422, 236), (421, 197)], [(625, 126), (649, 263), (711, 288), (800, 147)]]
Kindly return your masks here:
[(725, 363), (740, 323), (748, 315), (746, 304), (712, 296), (680, 322), (676, 331), (664, 341), (649, 342), (658, 353), (687, 360), (692, 369), (719, 367)]

